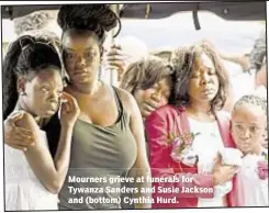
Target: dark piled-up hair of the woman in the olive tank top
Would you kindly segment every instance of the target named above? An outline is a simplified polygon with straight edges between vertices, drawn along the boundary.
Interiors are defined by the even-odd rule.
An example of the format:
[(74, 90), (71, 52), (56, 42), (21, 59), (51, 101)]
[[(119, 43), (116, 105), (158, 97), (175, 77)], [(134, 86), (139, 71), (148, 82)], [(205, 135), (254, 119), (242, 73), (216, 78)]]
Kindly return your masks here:
[[(57, 22), (63, 32), (67, 30), (92, 31), (102, 44), (105, 33), (116, 26), (121, 21), (105, 4), (65, 4), (61, 5)], [(116, 36), (114, 35), (114, 36)]]

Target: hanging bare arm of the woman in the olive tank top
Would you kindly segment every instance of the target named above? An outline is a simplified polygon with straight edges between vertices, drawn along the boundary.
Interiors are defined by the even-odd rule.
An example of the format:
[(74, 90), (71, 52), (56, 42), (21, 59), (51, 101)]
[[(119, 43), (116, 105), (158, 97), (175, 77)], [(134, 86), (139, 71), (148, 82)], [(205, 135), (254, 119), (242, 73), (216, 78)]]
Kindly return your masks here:
[[(150, 193), (141, 193), (142, 188), (152, 188), (152, 183), (146, 181), (146, 177), (150, 178), (150, 167), (147, 159), (144, 125), (138, 105), (132, 94), (121, 90), (121, 97), (123, 98), (126, 107), (130, 109), (130, 128), (135, 137), (137, 144), (137, 157), (130, 170), (130, 176), (136, 179), (137, 177), (144, 177), (144, 182), (135, 182), (135, 187), (138, 188), (139, 193), (135, 193), (134, 197), (152, 198)], [(150, 203), (135, 204), (135, 209), (152, 209)]]

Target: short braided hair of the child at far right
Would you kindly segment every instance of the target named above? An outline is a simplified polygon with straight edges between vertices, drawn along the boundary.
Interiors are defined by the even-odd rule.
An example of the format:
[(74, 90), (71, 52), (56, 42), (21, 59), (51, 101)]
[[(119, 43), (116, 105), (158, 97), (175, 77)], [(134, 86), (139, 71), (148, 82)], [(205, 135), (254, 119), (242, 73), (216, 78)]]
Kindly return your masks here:
[(258, 105), (267, 114), (267, 100), (255, 94), (248, 94), (242, 97), (234, 105), (234, 110), (242, 104)]

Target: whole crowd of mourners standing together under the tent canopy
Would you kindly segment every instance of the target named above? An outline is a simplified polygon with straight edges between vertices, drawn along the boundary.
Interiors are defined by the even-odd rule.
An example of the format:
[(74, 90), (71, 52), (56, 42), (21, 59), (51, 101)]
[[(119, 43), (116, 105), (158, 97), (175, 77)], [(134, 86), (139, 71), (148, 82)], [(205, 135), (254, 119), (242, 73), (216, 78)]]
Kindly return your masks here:
[[(244, 56), (210, 41), (162, 55), (135, 40), (133, 52), (132, 40), (104, 48), (121, 22), (105, 4), (65, 4), (55, 15), (60, 38), (49, 12), (14, 20), (18, 38), (3, 58), (5, 211), (268, 206), (266, 30)], [(227, 63), (240, 67), (247, 90)], [(102, 79), (111, 69), (117, 86)], [(164, 175), (193, 180), (181, 190), (212, 190), (83, 181)], [(87, 188), (100, 190), (70, 191)], [(122, 199), (70, 202), (89, 197)]]

